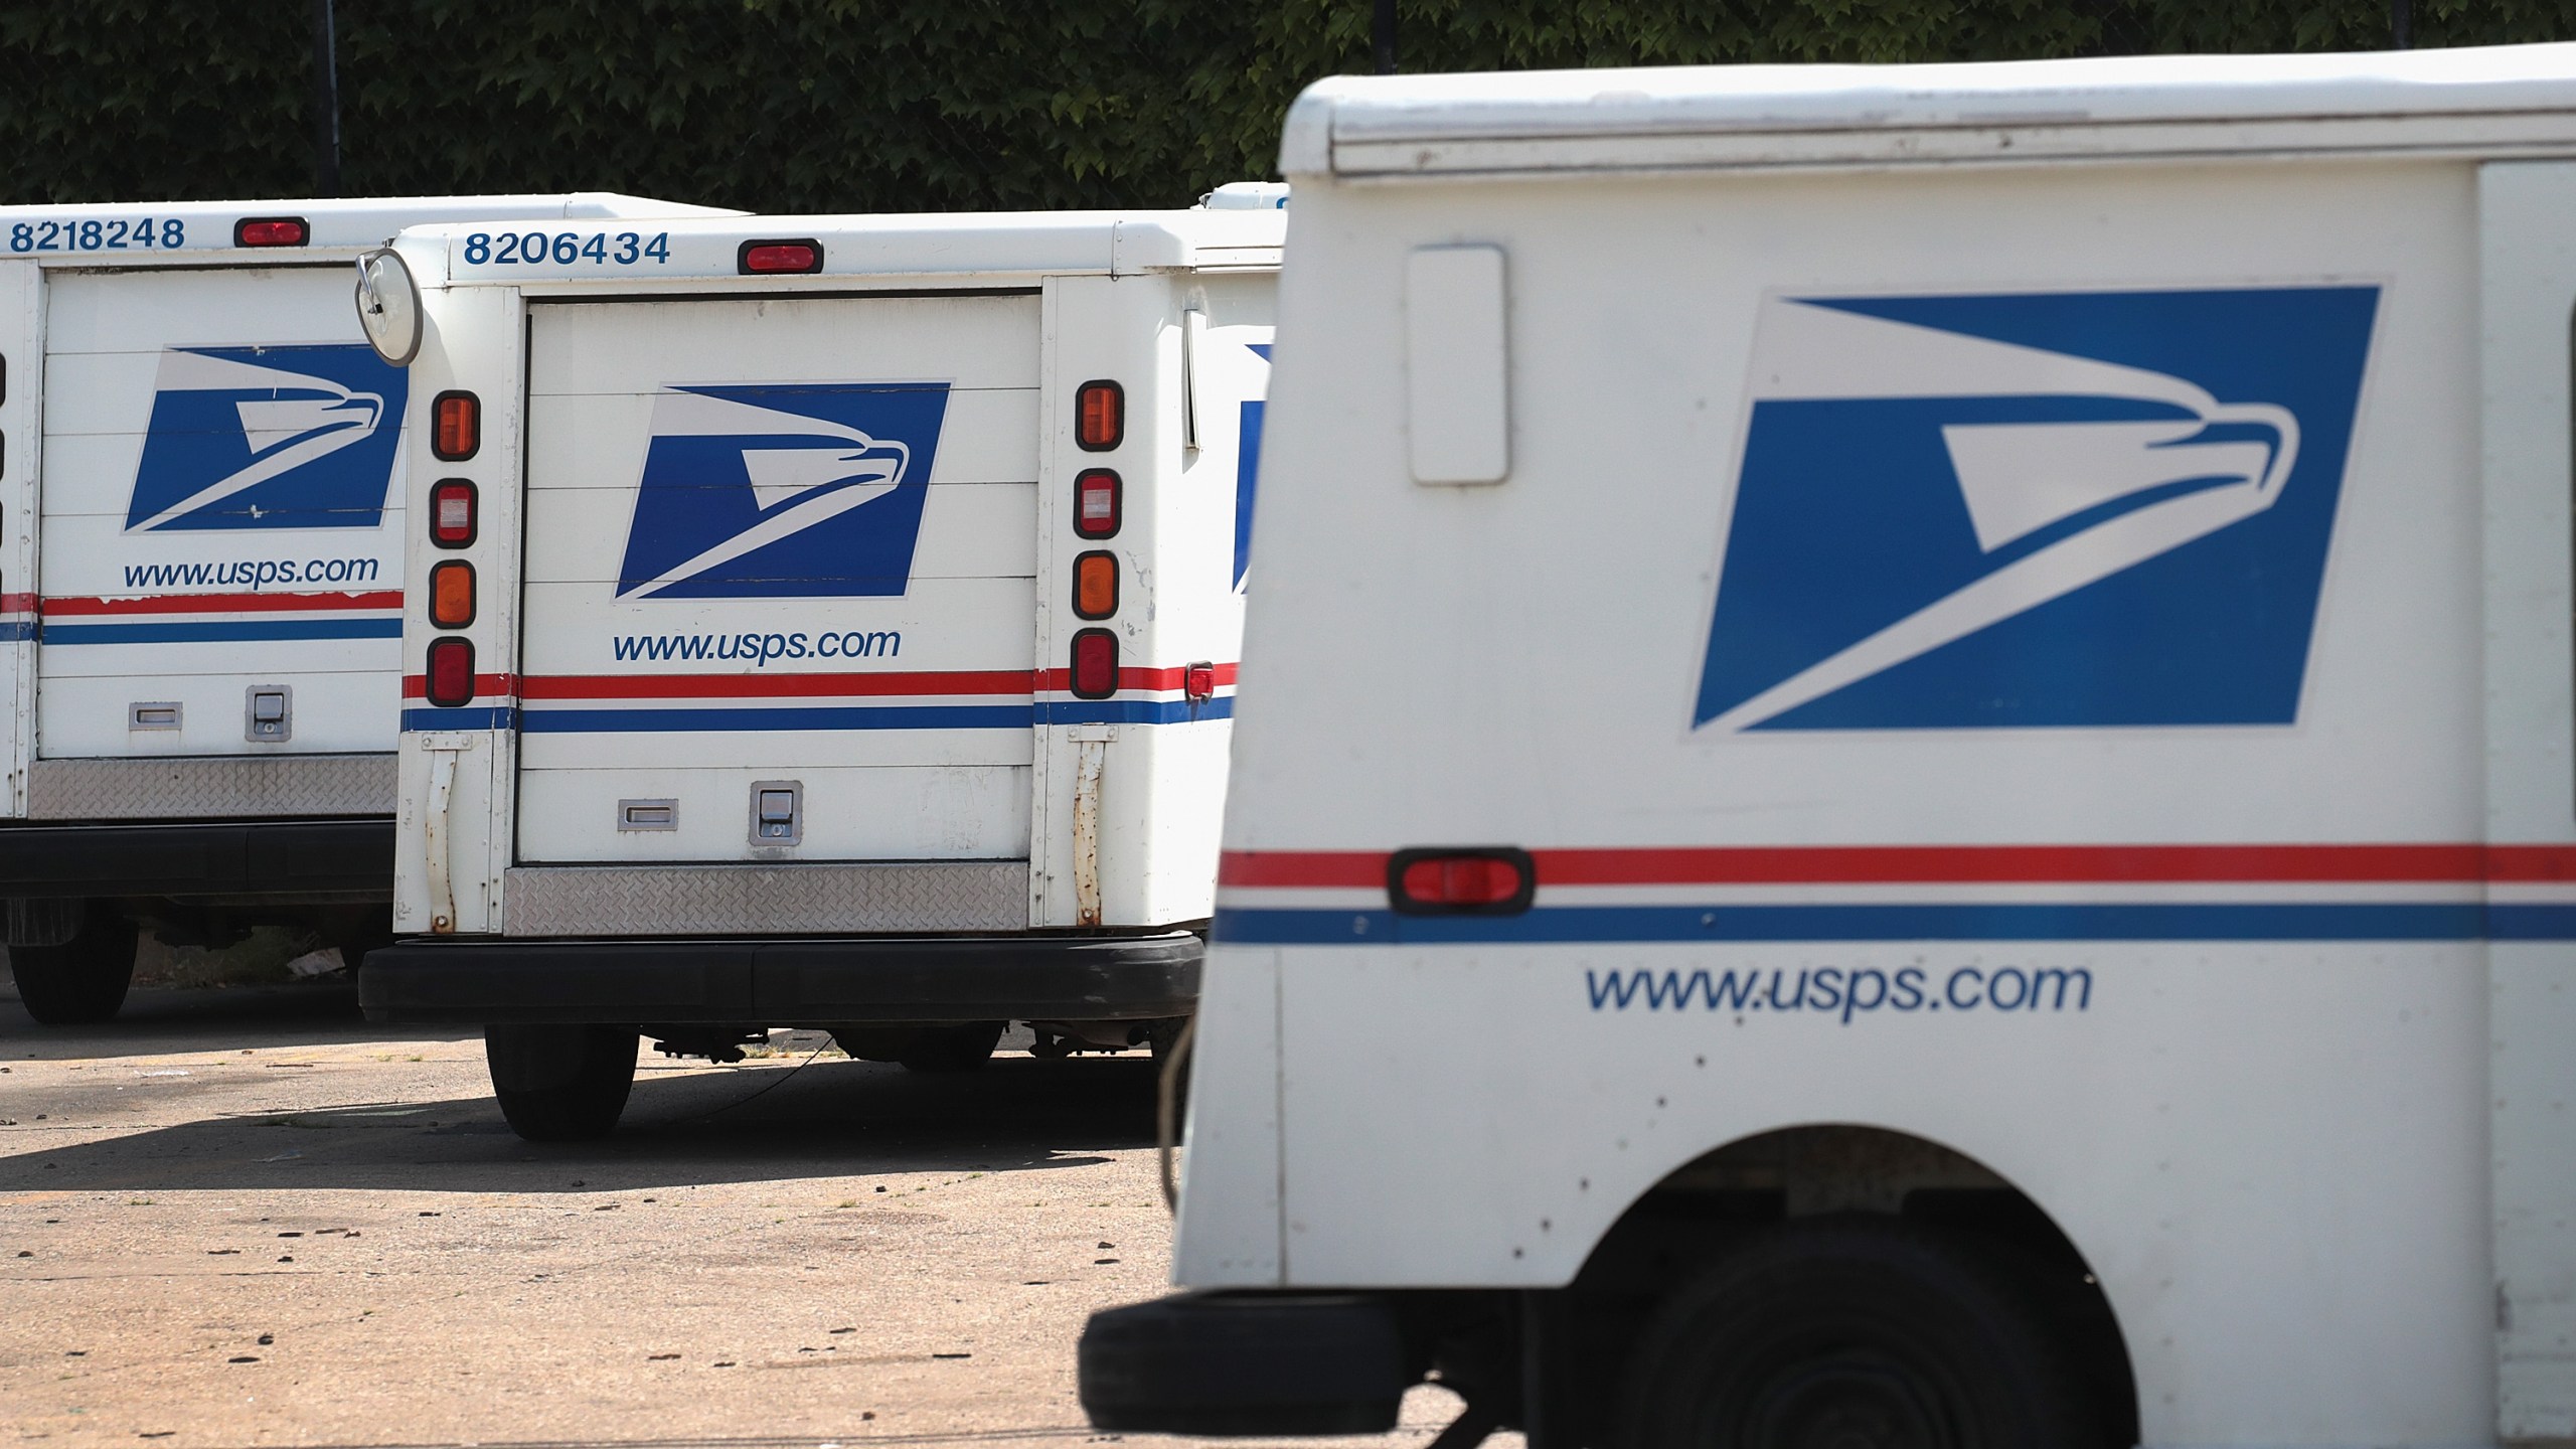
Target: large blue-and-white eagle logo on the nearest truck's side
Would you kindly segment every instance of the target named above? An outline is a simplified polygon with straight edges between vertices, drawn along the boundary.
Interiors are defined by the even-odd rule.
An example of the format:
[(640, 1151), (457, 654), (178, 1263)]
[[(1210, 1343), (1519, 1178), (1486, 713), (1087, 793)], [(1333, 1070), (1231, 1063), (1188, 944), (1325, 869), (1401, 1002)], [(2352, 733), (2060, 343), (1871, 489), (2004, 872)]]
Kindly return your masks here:
[(1695, 724), (2295, 722), (2378, 299), (1765, 299)]

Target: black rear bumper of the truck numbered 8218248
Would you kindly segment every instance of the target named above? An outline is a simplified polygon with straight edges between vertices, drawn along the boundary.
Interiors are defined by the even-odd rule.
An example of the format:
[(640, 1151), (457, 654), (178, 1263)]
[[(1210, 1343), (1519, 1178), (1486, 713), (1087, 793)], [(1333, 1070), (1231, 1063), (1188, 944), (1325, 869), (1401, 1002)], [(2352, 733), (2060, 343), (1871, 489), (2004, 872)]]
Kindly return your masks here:
[(394, 822), (0, 825), (0, 897), (384, 902)]

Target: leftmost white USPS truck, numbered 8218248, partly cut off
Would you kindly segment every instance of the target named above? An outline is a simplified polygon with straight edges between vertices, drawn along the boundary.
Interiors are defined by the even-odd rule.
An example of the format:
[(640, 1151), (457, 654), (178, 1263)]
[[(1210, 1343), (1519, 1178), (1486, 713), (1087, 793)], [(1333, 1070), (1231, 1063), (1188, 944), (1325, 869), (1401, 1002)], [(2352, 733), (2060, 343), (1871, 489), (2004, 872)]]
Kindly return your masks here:
[[(0, 206), (0, 900), (39, 1021), (124, 1003), (137, 920), (386, 933), (402, 374), (350, 260), (631, 196)], [(644, 235), (659, 235), (644, 229)]]

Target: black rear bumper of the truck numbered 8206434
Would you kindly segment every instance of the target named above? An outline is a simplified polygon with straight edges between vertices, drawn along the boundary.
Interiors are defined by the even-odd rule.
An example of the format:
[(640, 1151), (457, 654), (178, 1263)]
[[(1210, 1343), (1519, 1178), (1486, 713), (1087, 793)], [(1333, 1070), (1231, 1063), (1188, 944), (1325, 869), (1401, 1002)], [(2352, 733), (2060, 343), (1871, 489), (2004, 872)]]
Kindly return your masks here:
[(1198, 1006), (1198, 936), (407, 941), (358, 969), (368, 1021), (1154, 1021)]

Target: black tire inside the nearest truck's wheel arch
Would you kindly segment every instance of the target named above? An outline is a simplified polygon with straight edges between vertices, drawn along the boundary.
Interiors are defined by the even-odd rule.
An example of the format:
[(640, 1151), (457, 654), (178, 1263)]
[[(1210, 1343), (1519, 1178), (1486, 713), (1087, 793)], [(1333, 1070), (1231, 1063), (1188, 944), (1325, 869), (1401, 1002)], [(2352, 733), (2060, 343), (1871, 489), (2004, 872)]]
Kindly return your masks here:
[(2071, 1449), (2102, 1418), (2048, 1318), (1896, 1217), (1765, 1230), (1656, 1310), (1618, 1449)]

